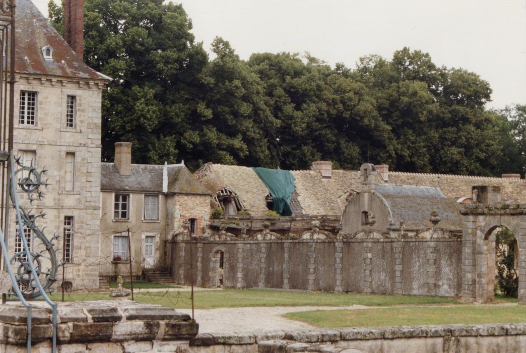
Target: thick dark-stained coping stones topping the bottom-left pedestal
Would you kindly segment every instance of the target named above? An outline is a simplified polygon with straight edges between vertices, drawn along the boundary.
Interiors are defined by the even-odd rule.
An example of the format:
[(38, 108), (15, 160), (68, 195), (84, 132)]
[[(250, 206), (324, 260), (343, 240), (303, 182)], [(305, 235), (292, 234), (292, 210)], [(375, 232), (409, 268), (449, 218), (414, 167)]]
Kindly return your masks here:
[[(42, 302), (31, 302), (32, 342), (52, 338), (52, 312)], [(129, 300), (57, 303), (57, 342), (181, 340), (197, 335), (199, 325), (189, 315), (159, 305)], [(20, 303), (0, 308), (0, 341), (25, 345), (27, 311)]]

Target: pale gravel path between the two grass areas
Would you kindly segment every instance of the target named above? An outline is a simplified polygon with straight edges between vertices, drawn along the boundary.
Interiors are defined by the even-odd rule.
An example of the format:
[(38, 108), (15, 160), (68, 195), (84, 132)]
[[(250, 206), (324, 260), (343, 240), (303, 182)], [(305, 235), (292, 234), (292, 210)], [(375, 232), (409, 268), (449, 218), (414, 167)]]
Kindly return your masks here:
[[(228, 332), (275, 331), (307, 329), (314, 326), (305, 322), (289, 320), (282, 315), (295, 311), (365, 309), (354, 305), (350, 307), (250, 307), (196, 309), (195, 319), (199, 323), (199, 332), (225, 334)], [(191, 315), (191, 309), (177, 309)]]

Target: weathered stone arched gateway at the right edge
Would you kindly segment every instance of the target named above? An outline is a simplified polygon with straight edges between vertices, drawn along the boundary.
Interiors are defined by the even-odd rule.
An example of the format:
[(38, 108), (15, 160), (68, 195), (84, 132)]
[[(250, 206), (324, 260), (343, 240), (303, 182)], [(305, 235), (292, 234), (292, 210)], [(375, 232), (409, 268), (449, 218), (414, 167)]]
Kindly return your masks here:
[(462, 299), (485, 303), (494, 298), (496, 227), (510, 229), (519, 247), (519, 302), (526, 303), (526, 204), (502, 201), (500, 187), (472, 188), (473, 203), (461, 209)]

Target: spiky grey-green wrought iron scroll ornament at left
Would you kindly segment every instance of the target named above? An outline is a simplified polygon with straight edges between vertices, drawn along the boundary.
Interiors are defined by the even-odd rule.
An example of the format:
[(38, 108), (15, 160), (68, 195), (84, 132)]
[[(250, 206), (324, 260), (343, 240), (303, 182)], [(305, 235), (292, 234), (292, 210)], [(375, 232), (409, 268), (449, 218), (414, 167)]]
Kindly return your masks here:
[[(15, 171), (15, 180), (17, 181), (18, 187), (27, 194), (29, 202), (33, 203), (35, 200), (42, 200), (44, 198), (44, 192), (41, 187), (47, 187), (47, 180), (43, 181), (42, 176), (47, 172), (45, 169), (38, 172), (33, 166), (23, 165), (20, 158), (15, 160), (18, 169)], [(37, 225), (39, 219), (44, 219), (45, 213), (40, 212), (39, 214), (32, 214), (31, 210), (26, 211), (21, 205), (17, 205), (17, 198), (14, 193), (16, 190), (13, 188), (10, 192), (11, 202), (15, 205), (15, 208), (19, 208), (22, 223), (24, 229), (31, 229), (34, 234), (32, 249), (42, 249), (39, 252), (31, 250), (31, 256), (28, 257), (24, 249), (16, 252), (11, 258), (12, 266), (17, 266), (16, 270), (16, 281), (18, 288), (24, 294), (24, 297), (31, 299), (42, 295), (41, 290), (38, 288), (35, 278), (33, 278), (29, 261), (33, 262), (33, 266), (38, 274), (38, 278), (42, 283), (42, 288), (46, 293), (51, 292), (51, 286), (56, 282), (57, 270), (60, 266), (64, 266), (64, 260), (57, 263), (55, 241), (59, 238), (59, 234), (54, 234), (51, 239), (48, 239), (44, 234), (44, 228), (40, 229)], [(41, 243), (36, 244), (35, 241), (39, 240)], [(44, 267), (48, 265), (48, 267)], [(45, 269), (44, 269), (45, 268)]]

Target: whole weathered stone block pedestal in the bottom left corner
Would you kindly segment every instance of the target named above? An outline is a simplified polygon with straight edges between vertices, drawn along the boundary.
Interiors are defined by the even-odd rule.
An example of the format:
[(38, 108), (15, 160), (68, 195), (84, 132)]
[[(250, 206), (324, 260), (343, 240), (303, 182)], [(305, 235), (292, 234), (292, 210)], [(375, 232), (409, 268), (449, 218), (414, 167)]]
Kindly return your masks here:
[[(51, 310), (43, 302), (32, 305), (32, 351), (49, 352)], [(26, 352), (26, 322), (27, 311), (19, 303), (0, 308), (0, 351)], [(129, 300), (58, 303), (59, 352), (176, 351), (187, 347), (198, 330), (189, 315), (158, 305)]]

